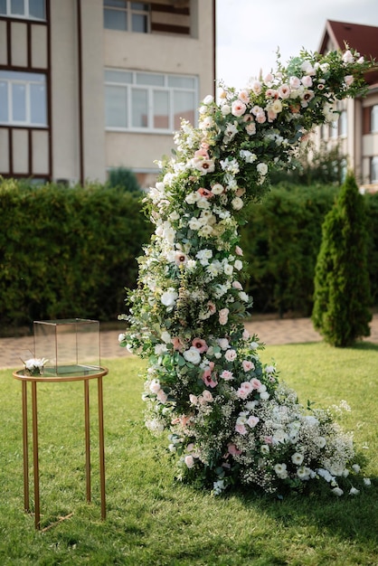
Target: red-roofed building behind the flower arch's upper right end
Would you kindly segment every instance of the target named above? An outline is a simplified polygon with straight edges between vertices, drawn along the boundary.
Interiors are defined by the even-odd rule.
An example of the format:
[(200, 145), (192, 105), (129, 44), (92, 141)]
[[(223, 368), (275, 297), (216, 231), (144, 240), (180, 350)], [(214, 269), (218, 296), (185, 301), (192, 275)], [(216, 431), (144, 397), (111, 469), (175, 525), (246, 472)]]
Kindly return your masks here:
[[(378, 59), (378, 27), (328, 20), (318, 51), (345, 49)], [(317, 129), (317, 148), (337, 146), (345, 171), (354, 171), (362, 190), (378, 189), (378, 69), (367, 73), (369, 91), (364, 98), (338, 102), (339, 119)]]

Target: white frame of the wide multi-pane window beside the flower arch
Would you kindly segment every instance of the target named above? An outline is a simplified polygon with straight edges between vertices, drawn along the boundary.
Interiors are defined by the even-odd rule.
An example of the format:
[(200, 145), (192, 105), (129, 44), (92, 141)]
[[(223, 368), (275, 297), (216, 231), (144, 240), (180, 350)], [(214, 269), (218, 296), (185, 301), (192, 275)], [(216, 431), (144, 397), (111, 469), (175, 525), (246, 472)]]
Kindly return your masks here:
[[(107, 71), (120, 71), (124, 72), (125, 74), (128, 73), (131, 75), (132, 79), (129, 82), (118, 82), (115, 80), (107, 80), (106, 73)], [(138, 75), (155, 75), (159, 78), (163, 78), (163, 85), (146, 85), (140, 84), (137, 82)], [(183, 79), (190, 79), (194, 82), (194, 87), (177, 87), (177, 86), (170, 86), (168, 84), (170, 78), (183, 78)], [(106, 99), (106, 90), (107, 87), (117, 87), (119, 89), (123, 89), (125, 92), (125, 99), (127, 100), (126, 106), (126, 114), (127, 114), (127, 127), (116, 127), (116, 126), (108, 126), (106, 124), (106, 130), (109, 131), (123, 131), (123, 132), (136, 132), (136, 133), (148, 133), (148, 134), (169, 134), (172, 135), (172, 132), (177, 128), (175, 125), (175, 92), (190, 92), (193, 95), (194, 99), (194, 108), (193, 115), (194, 115), (194, 127), (196, 126), (196, 119), (197, 119), (197, 108), (198, 108), (198, 77), (195, 75), (174, 75), (174, 74), (165, 74), (165, 73), (157, 73), (157, 72), (145, 72), (145, 71), (130, 71), (126, 69), (106, 69), (105, 70), (105, 99)], [(146, 119), (146, 127), (133, 127), (132, 126), (132, 117), (133, 117), (133, 108), (132, 108), (132, 90), (145, 90), (146, 91), (146, 99), (147, 99), (147, 119)], [(168, 94), (168, 126), (167, 127), (154, 127), (154, 94), (156, 92), (165, 92)]]

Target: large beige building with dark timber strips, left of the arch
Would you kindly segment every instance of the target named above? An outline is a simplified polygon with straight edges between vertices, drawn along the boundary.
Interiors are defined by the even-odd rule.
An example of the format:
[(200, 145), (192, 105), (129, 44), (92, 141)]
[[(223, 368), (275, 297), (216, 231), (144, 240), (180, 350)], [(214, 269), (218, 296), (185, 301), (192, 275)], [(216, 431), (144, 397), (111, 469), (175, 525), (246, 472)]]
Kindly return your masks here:
[(215, 0), (0, 0), (0, 175), (148, 186), (214, 80)]

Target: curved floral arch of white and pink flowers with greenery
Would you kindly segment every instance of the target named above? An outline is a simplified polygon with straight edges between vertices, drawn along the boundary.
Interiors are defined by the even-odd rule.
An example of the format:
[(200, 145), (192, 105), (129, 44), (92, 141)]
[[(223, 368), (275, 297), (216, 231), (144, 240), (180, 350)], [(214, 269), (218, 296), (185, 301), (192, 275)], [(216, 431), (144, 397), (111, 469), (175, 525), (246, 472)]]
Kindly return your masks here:
[(238, 226), (245, 204), (269, 189), (271, 168), (291, 166), (310, 129), (337, 118), (337, 99), (364, 92), (372, 65), (349, 49), (301, 52), (243, 90), (222, 85), (219, 104), (203, 100), (198, 127), (183, 121), (146, 196), (156, 230), (119, 342), (148, 359), (146, 425), (168, 431), (178, 477), (214, 494), (321, 480), (341, 495), (340, 478), (357, 469), (331, 410), (302, 407), (244, 329), (251, 300)]

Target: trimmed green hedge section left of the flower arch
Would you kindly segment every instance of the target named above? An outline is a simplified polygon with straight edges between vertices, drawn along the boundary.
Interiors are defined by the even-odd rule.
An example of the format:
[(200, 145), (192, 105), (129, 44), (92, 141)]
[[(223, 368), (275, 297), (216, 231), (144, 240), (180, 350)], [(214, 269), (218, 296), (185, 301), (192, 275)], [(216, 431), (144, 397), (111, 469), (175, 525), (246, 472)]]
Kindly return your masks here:
[(140, 201), (92, 185), (0, 184), (0, 317), (4, 325), (116, 319), (151, 226)]

